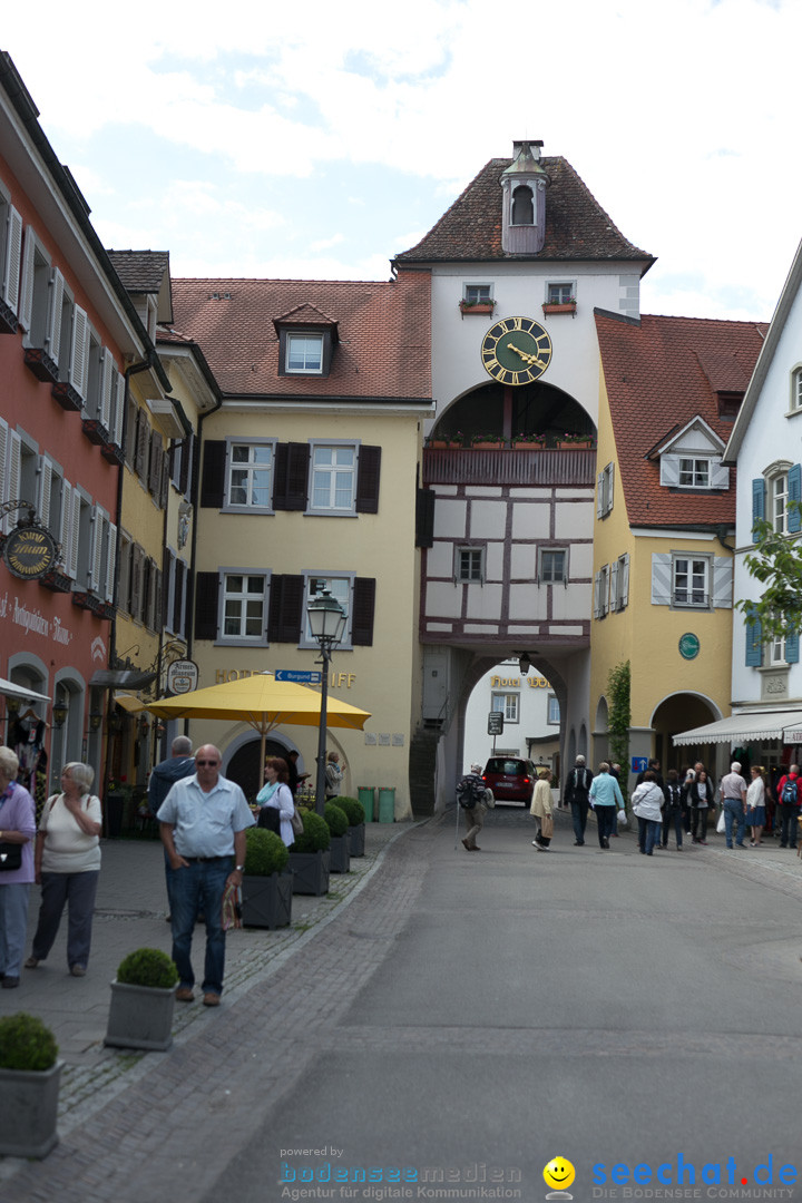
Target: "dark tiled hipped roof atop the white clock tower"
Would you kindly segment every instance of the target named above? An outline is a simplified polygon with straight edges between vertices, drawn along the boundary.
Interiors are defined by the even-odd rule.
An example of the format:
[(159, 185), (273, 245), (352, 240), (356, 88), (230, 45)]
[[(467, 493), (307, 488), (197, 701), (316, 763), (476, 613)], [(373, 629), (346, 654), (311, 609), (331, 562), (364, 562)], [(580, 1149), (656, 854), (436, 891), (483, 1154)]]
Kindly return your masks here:
[(546, 192), (546, 241), (536, 255), (501, 250), (500, 176), (512, 159), (491, 159), (416, 247), (399, 263), (450, 260), (630, 260), (647, 272), (654, 257), (613, 225), (574, 167), (560, 156), (540, 165), (551, 177)]

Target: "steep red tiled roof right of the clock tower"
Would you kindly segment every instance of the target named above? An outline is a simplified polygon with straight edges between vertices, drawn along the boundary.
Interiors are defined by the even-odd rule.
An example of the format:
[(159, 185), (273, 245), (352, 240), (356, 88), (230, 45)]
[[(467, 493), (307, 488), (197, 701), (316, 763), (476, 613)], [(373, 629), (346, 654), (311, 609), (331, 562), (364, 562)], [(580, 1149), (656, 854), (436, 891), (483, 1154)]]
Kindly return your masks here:
[(768, 322), (658, 318), (640, 324), (596, 312), (622, 486), (631, 526), (700, 526), (735, 521), (735, 469), (726, 492), (660, 485), (659, 460), (646, 456), (697, 415), (726, 444), (732, 420), (718, 393), (743, 393)]

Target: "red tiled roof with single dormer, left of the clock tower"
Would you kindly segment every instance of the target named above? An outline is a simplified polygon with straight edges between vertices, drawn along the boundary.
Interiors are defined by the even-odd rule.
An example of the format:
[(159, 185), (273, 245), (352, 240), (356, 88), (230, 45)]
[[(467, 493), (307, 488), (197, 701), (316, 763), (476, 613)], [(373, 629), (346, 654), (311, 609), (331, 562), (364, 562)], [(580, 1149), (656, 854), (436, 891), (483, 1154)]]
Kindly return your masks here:
[[(227, 396), (428, 399), (429, 283), (426, 272), (404, 271), (390, 283), (174, 279), (173, 309)], [(279, 375), (273, 322), (299, 307), (338, 324), (328, 377)], [(307, 310), (301, 320), (311, 320)]]

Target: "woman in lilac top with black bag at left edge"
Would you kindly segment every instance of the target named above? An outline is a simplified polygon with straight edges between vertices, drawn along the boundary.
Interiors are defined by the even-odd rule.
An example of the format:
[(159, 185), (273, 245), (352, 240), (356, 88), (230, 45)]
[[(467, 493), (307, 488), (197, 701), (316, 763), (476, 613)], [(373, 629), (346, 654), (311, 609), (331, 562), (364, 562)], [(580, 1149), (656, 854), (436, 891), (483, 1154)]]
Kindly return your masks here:
[(0, 747), (0, 985), (19, 985), (25, 948), (28, 897), (34, 881), (36, 807), (17, 781), (19, 760)]

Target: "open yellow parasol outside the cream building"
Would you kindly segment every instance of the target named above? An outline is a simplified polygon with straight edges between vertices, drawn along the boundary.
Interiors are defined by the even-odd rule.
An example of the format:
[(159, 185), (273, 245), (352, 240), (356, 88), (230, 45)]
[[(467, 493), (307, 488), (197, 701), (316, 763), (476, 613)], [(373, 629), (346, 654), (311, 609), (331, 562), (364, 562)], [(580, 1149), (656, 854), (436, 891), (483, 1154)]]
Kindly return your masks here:
[[(210, 685), (176, 698), (158, 698), (147, 709), (158, 718), (222, 718), (249, 723), (262, 736), (260, 765), (265, 774), (265, 741), (277, 727), (319, 727), (321, 695), (293, 681), (277, 681), (272, 672), (254, 672), (236, 681)], [(327, 727), (361, 731), (367, 710), (328, 695)]]

